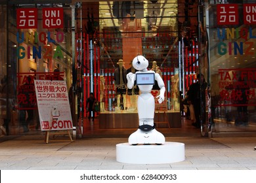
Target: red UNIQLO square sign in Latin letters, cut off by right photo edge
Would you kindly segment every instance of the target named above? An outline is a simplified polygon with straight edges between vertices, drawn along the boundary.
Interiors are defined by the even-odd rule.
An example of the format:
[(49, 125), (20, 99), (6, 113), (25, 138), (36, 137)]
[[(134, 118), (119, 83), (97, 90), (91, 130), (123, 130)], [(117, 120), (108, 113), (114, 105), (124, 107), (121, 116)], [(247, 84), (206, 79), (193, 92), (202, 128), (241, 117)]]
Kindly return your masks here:
[(256, 4), (244, 4), (244, 24), (256, 24)]

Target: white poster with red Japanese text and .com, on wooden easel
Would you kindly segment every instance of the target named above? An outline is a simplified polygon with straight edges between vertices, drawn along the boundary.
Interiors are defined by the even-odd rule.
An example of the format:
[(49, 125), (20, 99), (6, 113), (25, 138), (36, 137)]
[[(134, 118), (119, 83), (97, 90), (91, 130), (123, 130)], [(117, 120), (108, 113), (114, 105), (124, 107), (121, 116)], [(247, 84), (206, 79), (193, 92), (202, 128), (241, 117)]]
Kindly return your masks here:
[(73, 129), (64, 80), (34, 80), (42, 131)]

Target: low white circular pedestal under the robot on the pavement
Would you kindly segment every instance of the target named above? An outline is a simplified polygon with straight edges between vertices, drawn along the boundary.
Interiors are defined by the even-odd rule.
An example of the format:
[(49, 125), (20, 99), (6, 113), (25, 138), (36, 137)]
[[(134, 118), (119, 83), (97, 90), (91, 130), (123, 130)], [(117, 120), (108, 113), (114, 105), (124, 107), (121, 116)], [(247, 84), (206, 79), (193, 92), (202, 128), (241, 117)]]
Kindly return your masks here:
[(185, 145), (180, 142), (165, 142), (163, 145), (116, 144), (116, 161), (135, 164), (159, 164), (184, 161)]

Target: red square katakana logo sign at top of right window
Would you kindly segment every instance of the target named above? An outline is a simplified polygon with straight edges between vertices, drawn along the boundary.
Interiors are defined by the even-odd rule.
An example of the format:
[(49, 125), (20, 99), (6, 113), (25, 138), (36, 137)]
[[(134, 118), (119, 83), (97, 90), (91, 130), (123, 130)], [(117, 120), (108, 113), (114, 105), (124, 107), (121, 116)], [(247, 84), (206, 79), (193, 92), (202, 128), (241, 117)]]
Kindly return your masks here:
[(217, 24), (218, 25), (238, 25), (238, 5), (226, 4), (217, 5)]

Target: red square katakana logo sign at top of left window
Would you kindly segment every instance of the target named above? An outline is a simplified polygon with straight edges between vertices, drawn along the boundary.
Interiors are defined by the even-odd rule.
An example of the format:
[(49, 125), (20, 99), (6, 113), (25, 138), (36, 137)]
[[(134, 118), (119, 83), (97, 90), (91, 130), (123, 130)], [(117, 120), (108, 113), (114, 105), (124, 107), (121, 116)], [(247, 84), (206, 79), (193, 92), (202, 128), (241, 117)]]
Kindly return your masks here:
[(17, 29), (37, 29), (37, 8), (17, 8)]

